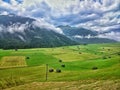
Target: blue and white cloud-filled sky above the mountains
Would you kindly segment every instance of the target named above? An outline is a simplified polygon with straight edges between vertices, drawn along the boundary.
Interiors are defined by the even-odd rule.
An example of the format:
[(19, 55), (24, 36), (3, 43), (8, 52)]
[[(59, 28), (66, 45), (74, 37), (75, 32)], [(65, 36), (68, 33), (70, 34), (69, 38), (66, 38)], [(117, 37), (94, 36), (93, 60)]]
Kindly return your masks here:
[[(99, 32), (120, 29), (120, 0), (0, 0), (0, 13), (36, 18), (51, 26), (71, 25)], [(118, 32), (108, 35), (120, 39)]]

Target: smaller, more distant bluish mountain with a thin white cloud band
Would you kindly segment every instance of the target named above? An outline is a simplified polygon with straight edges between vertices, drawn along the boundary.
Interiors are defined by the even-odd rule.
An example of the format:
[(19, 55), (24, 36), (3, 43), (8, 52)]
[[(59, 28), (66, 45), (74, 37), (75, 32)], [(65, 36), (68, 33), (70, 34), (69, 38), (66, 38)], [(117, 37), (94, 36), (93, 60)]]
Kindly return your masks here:
[(63, 33), (69, 37), (70, 39), (78, 42), (78, 43), (112, 43), (116, 42), (115, 40), (108, 38), (100, 38), (98, 37), (99, 33), (97, 31), (88, 30), (80, 27), (71, 27), (69, 25), (66, 26), (58, 26), (63, 30)]

